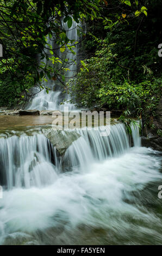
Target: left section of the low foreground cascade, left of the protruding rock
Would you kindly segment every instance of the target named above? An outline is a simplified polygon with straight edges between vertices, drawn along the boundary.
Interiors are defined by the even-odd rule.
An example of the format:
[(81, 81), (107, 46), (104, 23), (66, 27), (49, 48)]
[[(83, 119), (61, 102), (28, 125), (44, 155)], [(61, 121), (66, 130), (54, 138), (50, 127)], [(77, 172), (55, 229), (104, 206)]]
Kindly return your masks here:
[[(55, 149), (43, 135), (1, 139), (1, 184), (9, 189), (51, 184), (57, 178)], [(58, 167), (58, 165), (57, 165)]]

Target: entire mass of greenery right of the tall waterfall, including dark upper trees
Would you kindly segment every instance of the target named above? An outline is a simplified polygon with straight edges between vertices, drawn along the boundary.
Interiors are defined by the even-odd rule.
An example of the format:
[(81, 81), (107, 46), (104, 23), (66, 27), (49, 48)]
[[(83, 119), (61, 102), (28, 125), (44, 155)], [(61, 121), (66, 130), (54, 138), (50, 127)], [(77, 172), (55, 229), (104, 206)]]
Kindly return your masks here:
[[(131, 115), (145, 116), (144, 125), (154, 129), (162, 83), (162, 58), (157, 54), (160, 1), (122, 3), (128, 5), (127, 10), (122, 14), (116, 10), (116, 15), (110, 10), (106, 26), (104, 21), (89, 21), (83, 48), (90, 58), (84, 60), (85, 66), (71, 82), (70, 92), (79, 106), (122, 109), (120, 120), (128, 129)], [(135, 19), (131, 18), (133, 14)]]

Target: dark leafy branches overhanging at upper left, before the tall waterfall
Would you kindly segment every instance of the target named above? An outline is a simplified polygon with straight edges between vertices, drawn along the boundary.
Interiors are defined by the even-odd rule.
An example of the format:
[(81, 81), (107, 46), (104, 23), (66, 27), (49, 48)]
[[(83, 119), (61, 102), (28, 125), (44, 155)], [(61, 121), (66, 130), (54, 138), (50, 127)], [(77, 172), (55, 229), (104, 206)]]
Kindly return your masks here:
[[(2, 93), (1, 104), (11, 104), (17, 101), (20, 92), (31, 96), (30, 87), (46, 88), (48, 79), (65, 80), (64, 58), (58, 58), (55, 53), (58, 48), (65, 48), (74, 54), (75, 42), (68, 39), (63, 26), (62, 17), (71, 28), (73, 20), (78, 23), (78, 34), (82, 33), (79, 21), (85, 17), (98, 17), (102, 9), (100, 0), (89, 1), (53, 1), (53, 0), (2, 0), (0, 4), (0, 43), (3, 45), (3, 58), (0, 58), (1, 89), (11, 86), (11, 99)], [(104, 3), (103, 3), (104, 4)], [(53, 47), (47, 38), (53, 41)], [(36, 57), (40, 56), (41, 64)], [(72, 61), (70, 60), (72, 63)], [(61, 64), (60, 66), (58, 64)], [(29, 74), (33, 78), (29, 79)], [(7, 77), (7, 78), (6, 78)], [(4, 79), (5, 78), (5, 79)], [(7, 84), (7, 87), (5, 86)], [(26, 84), (28, 84), (26, 86)], [(3, 89), (3, 88), (4, 89)], [(3, 100), (4, 99), (4, 100)], [(24, 97), (26, 99), (26, 97)]]

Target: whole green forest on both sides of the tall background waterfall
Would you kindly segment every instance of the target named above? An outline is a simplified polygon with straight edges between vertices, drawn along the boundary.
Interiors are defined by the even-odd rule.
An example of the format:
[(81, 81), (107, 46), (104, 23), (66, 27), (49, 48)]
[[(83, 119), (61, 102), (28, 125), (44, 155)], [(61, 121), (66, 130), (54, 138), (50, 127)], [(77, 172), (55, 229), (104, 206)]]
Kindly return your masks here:
[[(1, 1), (0, 105), (24, 107), (33, 86), (48, 93), (48, 79), (61, 82), (78, 106), (154, 115), (161, 95), (161, 11), (160, 0)], [(79, 42), (63, 26), (71, 29), (74, 21)], [(60, 58), (57, 51), (75, 54), (77, 44), (83, 60), (66, 84), (75, 56)]]

